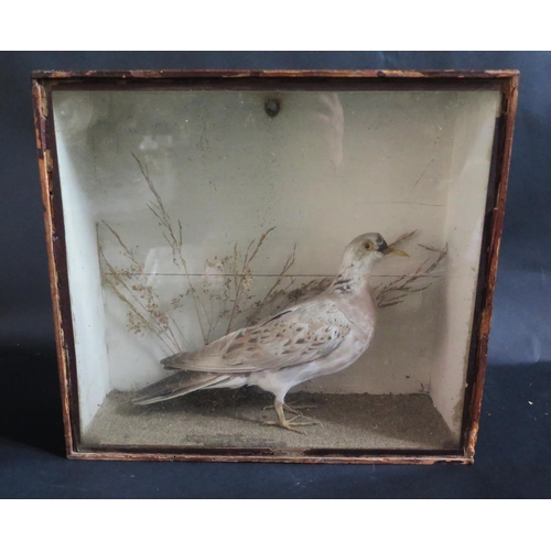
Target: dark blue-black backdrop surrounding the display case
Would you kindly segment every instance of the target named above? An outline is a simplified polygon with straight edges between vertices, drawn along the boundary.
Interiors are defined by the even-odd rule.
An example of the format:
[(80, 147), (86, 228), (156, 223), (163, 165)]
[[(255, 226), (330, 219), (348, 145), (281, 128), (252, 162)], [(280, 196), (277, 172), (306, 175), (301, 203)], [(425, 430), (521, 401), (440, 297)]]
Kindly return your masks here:
[[(520, 69), (473, 466), (64, 458), (33, 69)], [(0, 497), (551, 497), (551, 53), (0, 53)]]

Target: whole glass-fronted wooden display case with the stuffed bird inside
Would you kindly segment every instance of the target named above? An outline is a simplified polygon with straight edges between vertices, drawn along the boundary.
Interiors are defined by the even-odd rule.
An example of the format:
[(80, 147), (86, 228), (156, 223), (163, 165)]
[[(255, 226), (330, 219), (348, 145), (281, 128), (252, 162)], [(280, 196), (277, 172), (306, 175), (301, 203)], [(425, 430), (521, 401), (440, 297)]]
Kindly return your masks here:
[(469, 463), (517, 72), (36, 72), (67, 454)]

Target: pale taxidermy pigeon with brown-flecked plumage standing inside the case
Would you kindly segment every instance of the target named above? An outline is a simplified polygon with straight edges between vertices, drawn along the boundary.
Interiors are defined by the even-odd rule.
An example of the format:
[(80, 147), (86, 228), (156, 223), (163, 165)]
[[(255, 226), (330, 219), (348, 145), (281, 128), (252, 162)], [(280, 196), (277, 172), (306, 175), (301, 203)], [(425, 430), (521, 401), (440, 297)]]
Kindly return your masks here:
[(368, 348), (377, 305), (369, 285), (374, 264), (390, 255), (408, 256), (379, 234), (364, 234), (346, 247), (338, 276), (318, 295), (293, 304), (257, 325), (235, 331), (195, 352), (161, 360), (179, 371), (138, 391), (140, 406), (195, 390), (257, 386), (274, 396), (278, 424), (294, 432), (315, 421), (285, 419), (288, 391), (310, 379), (342, 371)]

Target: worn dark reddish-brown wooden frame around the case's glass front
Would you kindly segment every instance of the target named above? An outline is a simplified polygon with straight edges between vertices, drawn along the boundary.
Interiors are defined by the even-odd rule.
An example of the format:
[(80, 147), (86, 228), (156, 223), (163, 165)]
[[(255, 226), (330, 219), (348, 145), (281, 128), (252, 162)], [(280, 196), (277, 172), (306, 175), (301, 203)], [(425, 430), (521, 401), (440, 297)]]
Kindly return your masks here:
[[(504, 225), (512, 130), (517, 108), (517, 71), (126, 71), (33, 73), (33, 105), (44, 203), (46, 246), (67, 457), (208, 462), (434, 464), (473, 463), (480, 419), (486, 356), (499, 245)], [(288, 450), (108, 446), (79, 450), (78, 391), (63, 205), (52, 111), (53, 89), (331, 89), (501, 91), (480, 251), (471, 337), (462, 440), (457, 450)]]

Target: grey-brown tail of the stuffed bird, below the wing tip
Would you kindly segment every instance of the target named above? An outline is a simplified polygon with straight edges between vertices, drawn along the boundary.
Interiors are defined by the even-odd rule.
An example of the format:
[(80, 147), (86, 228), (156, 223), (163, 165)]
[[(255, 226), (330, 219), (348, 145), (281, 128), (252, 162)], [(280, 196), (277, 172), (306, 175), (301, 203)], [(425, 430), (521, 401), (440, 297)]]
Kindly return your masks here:
[(138, 406), (162, 402), (218, 385), (229, 378), (229, 375), (179, 371), (165, 379), (161, 379), (159, 382), (142, 388), (133, 396), (132, 402)]

